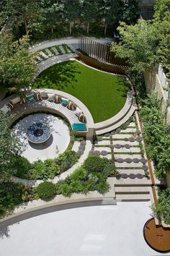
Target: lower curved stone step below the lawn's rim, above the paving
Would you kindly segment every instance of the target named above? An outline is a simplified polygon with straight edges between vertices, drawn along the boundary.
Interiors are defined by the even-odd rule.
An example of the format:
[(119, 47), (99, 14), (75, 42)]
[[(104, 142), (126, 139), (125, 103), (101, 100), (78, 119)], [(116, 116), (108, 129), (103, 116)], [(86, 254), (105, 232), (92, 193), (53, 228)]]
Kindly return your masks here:
[(118, 127), (120, 127), (120, 125), (124, 124), (126, 121), (128, 121), (128, 119), (130, 118), (130, 116), (133, 115), (135, 111), (135, 106), (131, 106), (130, 110), (128, 111), (128, 113), (120, 120), (118, 121), (116, 124), (113, 124), (105, 129), (99, 129), (96, 131), (96, 135), (103, 135), (104, 133), (107, 132), (111, 132), (114, 129), (117, 129)]

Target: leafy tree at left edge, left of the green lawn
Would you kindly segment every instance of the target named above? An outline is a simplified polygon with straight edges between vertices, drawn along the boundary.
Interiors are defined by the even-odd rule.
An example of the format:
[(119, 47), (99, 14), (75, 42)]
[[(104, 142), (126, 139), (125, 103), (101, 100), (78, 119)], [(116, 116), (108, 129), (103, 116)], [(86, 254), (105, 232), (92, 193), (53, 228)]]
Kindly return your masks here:
[(30, 38), (24, 35), (17, 41), (12, 41), (12, 35), (0, 35), (0, 83), (10, 89), (27, 88), (35, 77), (35, 54), (29, 54), (27, 49)]

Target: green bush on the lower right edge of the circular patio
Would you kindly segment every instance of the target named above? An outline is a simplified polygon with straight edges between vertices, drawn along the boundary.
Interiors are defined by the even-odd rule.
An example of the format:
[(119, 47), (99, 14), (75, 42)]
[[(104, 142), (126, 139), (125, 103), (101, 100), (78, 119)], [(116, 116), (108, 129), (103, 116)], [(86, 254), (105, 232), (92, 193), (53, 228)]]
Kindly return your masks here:
[(68, 170), (68, 168), (71, 168), (71, 166), (73, 166), (78, 159), (78, 154), (75, 151), (66, 150), (63, 154), (59, 155), (58, 158), (55, 159), (55, 163), (59, 166), (61, 172), (63, 172)]

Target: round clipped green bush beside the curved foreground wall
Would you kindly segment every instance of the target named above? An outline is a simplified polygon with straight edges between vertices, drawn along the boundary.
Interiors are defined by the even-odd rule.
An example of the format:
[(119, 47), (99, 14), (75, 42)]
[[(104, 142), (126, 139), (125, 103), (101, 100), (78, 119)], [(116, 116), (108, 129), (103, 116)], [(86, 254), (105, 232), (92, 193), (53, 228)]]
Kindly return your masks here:
[(53, 199), (56, 195), (55, 184), (52, 182), (42, 182), (37, 186), (37, 195), (42, 200)]

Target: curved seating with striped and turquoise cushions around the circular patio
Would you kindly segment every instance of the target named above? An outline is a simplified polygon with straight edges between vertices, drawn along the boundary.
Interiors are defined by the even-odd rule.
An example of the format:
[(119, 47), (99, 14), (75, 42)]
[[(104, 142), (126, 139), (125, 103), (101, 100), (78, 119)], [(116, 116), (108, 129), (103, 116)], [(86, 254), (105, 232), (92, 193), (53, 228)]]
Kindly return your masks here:
[[(39, 98), (36, 98), (36, 95)], [(54, 102), (54, 95), (58, 95), (58, 97), (61, 98), (58, 103)], [(72, 95), (63, 93), (59, 90), (47, 89), (27, 91), (26, 98), (27, 101), (23, 102), (23, 98), (20, 98), (17, 95), (12, 95), (5, 98), (4, 101), (1, 101), (0, 110), (9, 114), (10, 126), (14, 121), (17, 121), (17, 119), (21, 118), (25, 114), (31, 114), (37, 111), (48, 111), (52, 114), (58, 114), (66, 118), (71, 124), (73, 132), (76, 135), (86, 135), (87, 138), (93, 135), (94, 121), (89, 110), (83, 103), (81, 103), (81, 101)], [(26, 98), (24, 98), (24, 101)], [(71, 109), (73, 110), (68, 109), (68, 103), (72, 103), (73, 108)], [(84, 116), (84, 119), (82, 119), (82, 116)], [(81, 129), (79, 129), (79, 127)], [(86, 129), (82, 129), (82, 127), (86, 127)]]

